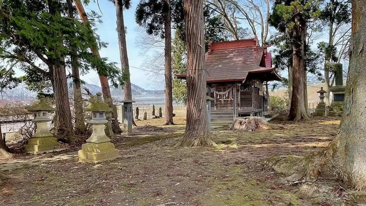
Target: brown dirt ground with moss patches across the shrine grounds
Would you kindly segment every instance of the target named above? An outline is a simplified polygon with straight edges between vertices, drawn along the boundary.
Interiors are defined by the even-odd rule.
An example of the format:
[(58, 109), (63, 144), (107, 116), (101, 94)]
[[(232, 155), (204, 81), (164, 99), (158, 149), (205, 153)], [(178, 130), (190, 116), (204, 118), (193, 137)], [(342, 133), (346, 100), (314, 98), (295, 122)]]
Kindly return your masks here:
[[(337, 134), (340, 118), (313, 117), (271, 121), (283, 130), (257, 132), (213, 129), (217, 147), (176, 148), (185, 116), (177, 125), (159, 126), (163, 119), (137, 121), (135, 135), (115, 138), (121, 158), (100, 165), (74, 162), (79, 147), (44, 155), (14, 154), (8, 163), (12, 179), (0, 187), (0, 205), (355, 205), (347, 187), (331, 181), (288, 183), (258, 164), (274, 156), (306, 156), (325, 147)], [(43, 161), (67, 153), (71, 158)], [(59, 156), (57, 156), (59, 157)], [(25, 161), (34, 160), (34, 164)], [(9, 164), (10, 163), (10, 164)], [(9, 170), (11, 165), (19, 167)], [(11, 168), (11, 167), (10, 167)], [(6, 169), (6, 168), (5, 168)]]

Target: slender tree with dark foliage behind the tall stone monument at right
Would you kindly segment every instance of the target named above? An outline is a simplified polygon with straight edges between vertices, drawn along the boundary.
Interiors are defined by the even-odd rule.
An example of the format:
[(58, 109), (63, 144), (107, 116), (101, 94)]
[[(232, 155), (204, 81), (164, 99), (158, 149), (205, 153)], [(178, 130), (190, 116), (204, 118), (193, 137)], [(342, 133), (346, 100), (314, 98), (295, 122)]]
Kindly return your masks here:
[[(321, 11), (319, 18), (322, 23), (329, 28), (328, 42), (319, 43), (319, 48), (324, 52), (324, 90), (325, 93), (325, 103), (329, 104), (329, 87), (332, 86), (330, 82), (330, 73), (334, 74), (333, 67), (330, 65), (330, 60), (337, 62), (339, 56), (337, 56), (337, 45), (336, 35), (337, 31), (342, 29), (342, 26), (346, 26), (351, 22), (351, 1), (338, 1), (329, 0)], [(333, 75), (334, 77), (334, 75)]]

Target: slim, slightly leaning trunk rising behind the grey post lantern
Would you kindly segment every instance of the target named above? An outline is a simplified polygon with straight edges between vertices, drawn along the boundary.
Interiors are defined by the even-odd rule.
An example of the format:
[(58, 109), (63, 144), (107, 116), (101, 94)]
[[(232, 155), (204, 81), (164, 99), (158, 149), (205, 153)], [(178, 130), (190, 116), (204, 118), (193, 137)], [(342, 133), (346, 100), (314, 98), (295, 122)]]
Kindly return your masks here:
[[(128, 65), (127, 46), (126, 46), (126, 30), (124, 28), (123, 21), (123, 1), (116, 0), (116, 17), (117, 17), (117, 35), (119, 45), (119, 56), (121, 59), (122, 72), (128, 76), (127, 80), (123, 85), (123, 98), (132, 100), (131, 92), (131, 80), (130, 80), (130, 66)], [(133, 111), (132, 111), (133, 117)], [(132, 118), (132, 124), (137, 126), (134, 119)]]

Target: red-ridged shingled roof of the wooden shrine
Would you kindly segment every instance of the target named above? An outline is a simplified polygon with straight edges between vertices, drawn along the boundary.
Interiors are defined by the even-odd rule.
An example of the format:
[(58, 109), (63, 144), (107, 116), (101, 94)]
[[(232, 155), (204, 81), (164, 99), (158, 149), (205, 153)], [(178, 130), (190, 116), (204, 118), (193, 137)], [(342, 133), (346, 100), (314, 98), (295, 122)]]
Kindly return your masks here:
[[(267, 52), (266, 47), (259, 47), (257, 37), (210, 43), (205, 58), (207, 82), (241, 81), (245, 80), (249, 73), (258, 72), (273, 73), (274, 75), (270, 75), (271, 80), (281, 80), (275, 68), (271, 66), (271, 54)], [(176, 76), (184, 78), (187, 74)]]

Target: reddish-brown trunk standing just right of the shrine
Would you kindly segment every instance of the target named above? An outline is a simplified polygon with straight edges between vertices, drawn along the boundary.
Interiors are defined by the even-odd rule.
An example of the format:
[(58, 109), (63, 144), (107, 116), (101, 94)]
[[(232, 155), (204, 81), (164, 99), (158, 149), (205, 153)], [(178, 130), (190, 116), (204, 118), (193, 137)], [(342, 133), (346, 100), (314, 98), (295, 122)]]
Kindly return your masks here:
[(304, 102), (304, 43), (306, 38), (306, 23), (295, 18), (294, 25), (294, 53), (292, 55), (292, 96), (290, 106), (290, 120), (309, 119)]

